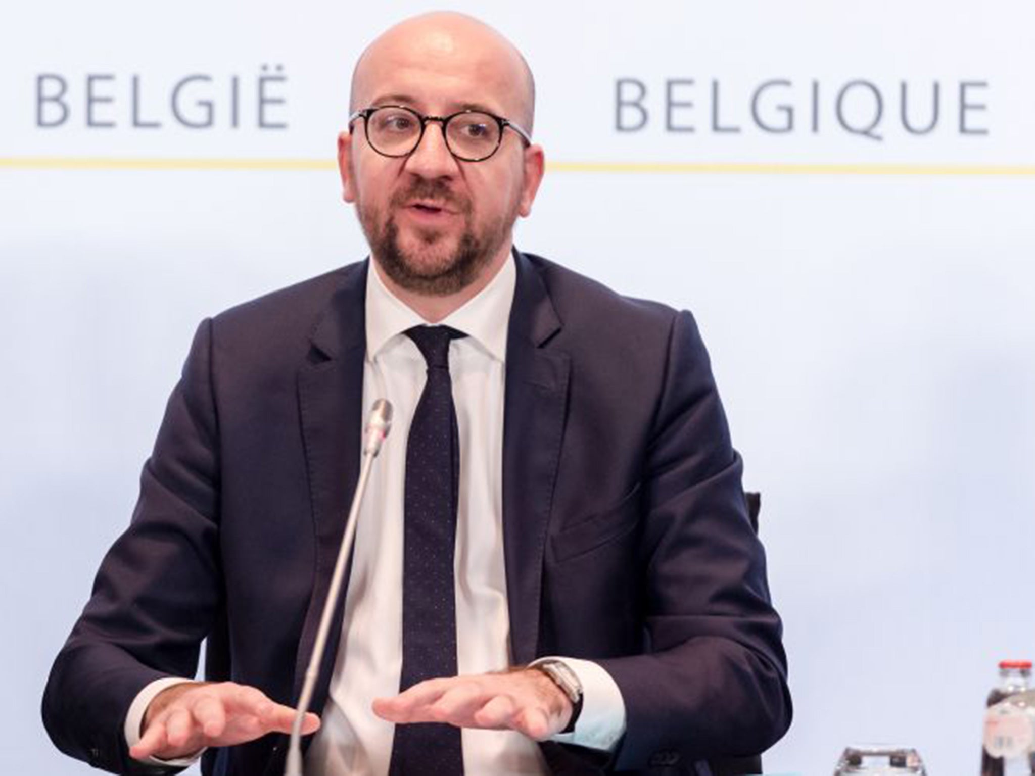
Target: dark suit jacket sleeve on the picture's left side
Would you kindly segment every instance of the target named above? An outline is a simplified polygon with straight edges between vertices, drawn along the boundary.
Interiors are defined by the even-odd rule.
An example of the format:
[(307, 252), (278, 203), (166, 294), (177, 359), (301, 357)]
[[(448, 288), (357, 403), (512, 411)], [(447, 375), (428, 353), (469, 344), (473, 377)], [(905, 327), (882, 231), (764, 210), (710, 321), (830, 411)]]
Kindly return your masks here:
[(132, 521), (105, 558), (43, 695), (54, 743), (112, 772), (169, 772), (128, 756), (123, 721), (149, 682), (195, 675), (220, 605), (210, 354), (205, 321), (144, 465)]

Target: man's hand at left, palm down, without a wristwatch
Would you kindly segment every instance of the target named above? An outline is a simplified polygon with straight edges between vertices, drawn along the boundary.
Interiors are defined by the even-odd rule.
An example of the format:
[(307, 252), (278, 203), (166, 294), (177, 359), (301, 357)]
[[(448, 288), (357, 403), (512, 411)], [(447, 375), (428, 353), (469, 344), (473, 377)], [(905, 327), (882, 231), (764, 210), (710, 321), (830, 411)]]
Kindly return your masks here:
[[(274, 704), (255, 687), (233, 682), (184, 682), (159, 692), (147, 707), (136, 759), (188, 757), (208, 746), (233, 746), (291, 733), (295, 710)], [(316, 733), (320, 718), (305, 715), (302, 734)]]

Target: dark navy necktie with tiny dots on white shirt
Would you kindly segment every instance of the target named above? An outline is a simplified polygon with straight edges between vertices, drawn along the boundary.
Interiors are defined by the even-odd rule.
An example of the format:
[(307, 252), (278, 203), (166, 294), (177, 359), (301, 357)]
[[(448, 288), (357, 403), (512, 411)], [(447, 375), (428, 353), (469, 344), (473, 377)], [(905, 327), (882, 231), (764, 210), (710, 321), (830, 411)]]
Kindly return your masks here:
[[(406, 448), (403, 544), (403, 670), (400, 690), (425, 679), (456, 676), (453, 550), (460, 439), (449, 379), (447, 326), (407, 332), (427, 362), (427, 383)], [(390, 776), (462, 776), (459, 727), (437, 722), (395, 726)]]

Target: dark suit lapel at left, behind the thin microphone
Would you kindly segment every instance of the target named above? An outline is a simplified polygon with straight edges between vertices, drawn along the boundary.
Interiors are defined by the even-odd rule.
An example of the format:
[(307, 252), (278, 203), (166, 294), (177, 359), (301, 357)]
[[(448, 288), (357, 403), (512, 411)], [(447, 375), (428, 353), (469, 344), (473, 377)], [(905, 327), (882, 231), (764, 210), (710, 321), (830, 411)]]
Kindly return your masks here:
[[(359, 477), (366, 352), (366, 272), (367, 263), (346, 269), (342, 288), (314, 328), (307, 361), (298, 371), (298, 401), (309, 475), (316, 553), (313, 594), (296, 656), (293, 700), (301, 693), (349, 503)], [(348, 572), (345, 578), (348, 580)], [(327, 651), (320, 666), (312, 705), (317, 712), (327, 698), (341, 637), (344, 601), (345, 590), (338, 599)]]

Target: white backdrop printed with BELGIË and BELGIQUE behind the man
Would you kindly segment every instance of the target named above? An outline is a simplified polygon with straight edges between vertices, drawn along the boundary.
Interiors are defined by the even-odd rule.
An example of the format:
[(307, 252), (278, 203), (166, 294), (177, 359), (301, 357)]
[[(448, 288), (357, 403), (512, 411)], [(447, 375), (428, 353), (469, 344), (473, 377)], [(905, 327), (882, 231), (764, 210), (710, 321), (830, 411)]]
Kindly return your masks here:
[[(51, 748), (39, 695), (128, 519), (194, 328), (364, 255), (330, 163), (348, 74), (377, 32), (431, 7), (58, 0), (7, 14), (7, 772), (87, 772)], [(509, 35), (538, 78), (553, 163), (519, 246), (702, 326), (764, 494), (786, 620), (796, 716), (766, 770), (828, 773), (845, 744), (892, 740), (933, 776), (975, 773), (995, 663), (1035, 653), (1033, 6), (452, 7)], [(191, 76), (208, 81), (181, 87), (176, 110), (204, 123), (208, 100), (211, 127), (173, 110)], [(259, 125), (262, 76), (283, 79), (262, 88), (265, 123), (285, 128)], [(617, 113), (622, 79), (626, 100), (631, 80), (646, 88), (638, 131), (616, 128), (644, 117)], [(904, 83), (914, 129), (938, 84), (927, 133), (904, 127)], [(667, 89), (682, 130), (666, 127)]]

